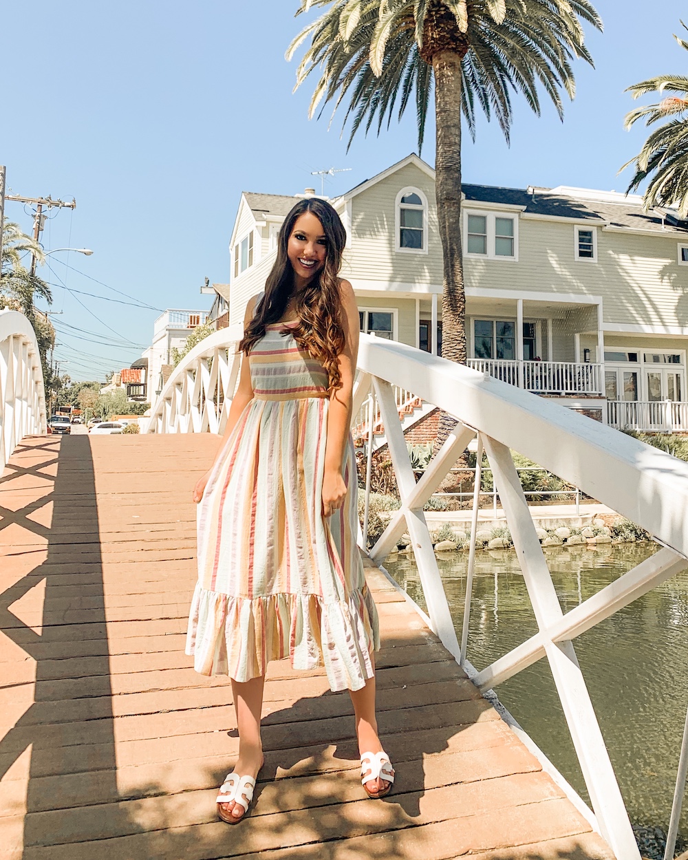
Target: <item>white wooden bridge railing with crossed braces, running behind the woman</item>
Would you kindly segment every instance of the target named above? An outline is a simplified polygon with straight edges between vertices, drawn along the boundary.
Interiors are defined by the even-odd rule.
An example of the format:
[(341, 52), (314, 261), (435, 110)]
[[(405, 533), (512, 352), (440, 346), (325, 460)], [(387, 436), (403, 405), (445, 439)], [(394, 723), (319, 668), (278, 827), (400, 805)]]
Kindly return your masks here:
[[(187, 355), (184, 363), (175, 368), (153, 410), (149, 432), (222, 431), (237, 381), (238, 360), (233, 350), (240, 334), (225, 329), (202, 341)], [(413, 392), (457, 420), (418, 481), (403, 436), (396, 388)], [(408, 532), (428, 622), (480, 690), (489, 692), (537, 660), (544, 657), (548, 660), (593, 805), (594, 814), (590, 818), (617, 857), (639, 858), (576, 658), (574, 639), (688, 566), (685, 516), (688, 464), (550, 400), (501, 382), (489, 372), (476, 372), (401, 343), (361, 335), (353, 415), (359, 415), (371, 396), (375, 403), (369, 415), (379, 413), (384, 424), (401, 498), (401, 507), (392, 513), (389, 525), (370, 550), (372, 560), (384, 562), (402, 533)], [(467, 660), (475, 547), (470, 550), (459, 641), (423, 513), (427, 500), (476, 436), (477, 462), (482, 462), (484, 450), (538, 627), (535, 636), (479, 671)], [(564, 613), (513, 464), (512, 451), (525, 455), (642, 526), (662, 549)], [(479, 487), (478, 475), (476, 488)], [(477, 495), (474, 536), (476, 522)]]

